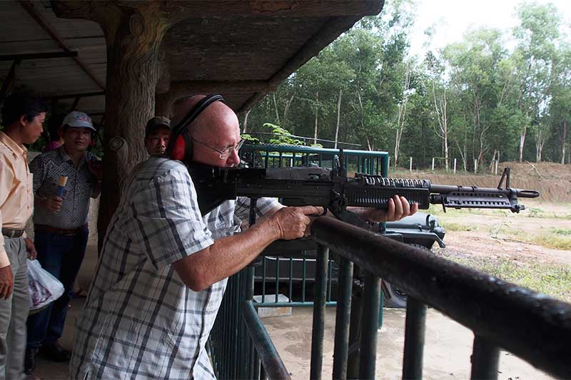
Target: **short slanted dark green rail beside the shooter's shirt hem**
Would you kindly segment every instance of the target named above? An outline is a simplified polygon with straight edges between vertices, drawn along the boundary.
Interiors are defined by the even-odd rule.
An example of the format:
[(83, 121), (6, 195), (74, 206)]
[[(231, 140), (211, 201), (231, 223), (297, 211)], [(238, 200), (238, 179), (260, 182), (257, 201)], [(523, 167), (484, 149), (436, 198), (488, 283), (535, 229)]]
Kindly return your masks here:
[(242, 313), (244, 322), (248, 326), (248, 333), (262, 362), (263, 376), (268, 376), (268, 379), (291, 379), (251, 300), (243, 303)]

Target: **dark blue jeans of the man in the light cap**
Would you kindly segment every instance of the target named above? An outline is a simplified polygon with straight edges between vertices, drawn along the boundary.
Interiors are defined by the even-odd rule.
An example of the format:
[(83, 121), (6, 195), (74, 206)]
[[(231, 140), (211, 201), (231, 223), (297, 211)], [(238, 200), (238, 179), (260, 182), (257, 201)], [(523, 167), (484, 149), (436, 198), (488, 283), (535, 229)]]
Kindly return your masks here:
[(64, 332), (69, 301), (84, 260), (88, 237), (87, 228), (73, 236), (36, 231), (34, 245), (41, 267), (64, 284), (64, 294), (45, 309), (28, 317), (28, 348), (54, 344)]

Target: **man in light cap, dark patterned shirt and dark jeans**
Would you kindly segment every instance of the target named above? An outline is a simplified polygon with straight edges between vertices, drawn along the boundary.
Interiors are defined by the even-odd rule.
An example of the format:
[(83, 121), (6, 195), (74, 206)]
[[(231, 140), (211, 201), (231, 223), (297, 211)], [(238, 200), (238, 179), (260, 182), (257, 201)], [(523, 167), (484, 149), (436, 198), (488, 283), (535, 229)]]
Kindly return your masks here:
[[(86, 113), (71, 111), (64, 118), (64, 145), (42, 153), (30, 163), (34, 173), (34, 232), (38, 260), (64, 284), (64, 294), (46, 309), (28, 318), (24, 367), (34, 371), (37, 351), (51, 361), (68, 361), (69, 351), (58, 339), (76, 275), (84, 258), (89, 230), (90, 198), (101, 188), (101, 165), (88, 152), (96, 132)], [(62, 188), (64, 188), (62, 193)]]

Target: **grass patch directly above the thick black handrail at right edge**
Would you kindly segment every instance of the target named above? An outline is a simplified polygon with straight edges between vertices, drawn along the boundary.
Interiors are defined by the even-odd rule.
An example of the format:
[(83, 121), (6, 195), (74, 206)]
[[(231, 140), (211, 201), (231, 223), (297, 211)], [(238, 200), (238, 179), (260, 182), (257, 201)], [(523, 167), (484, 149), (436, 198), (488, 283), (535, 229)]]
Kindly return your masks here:
[(513, 282), (521, 287), (571, 302), (570, 265), (520, 262), (496, 257), (458, 257), (446, 254), (443, 256), (460, 265), (492, 274), (492, 276)]

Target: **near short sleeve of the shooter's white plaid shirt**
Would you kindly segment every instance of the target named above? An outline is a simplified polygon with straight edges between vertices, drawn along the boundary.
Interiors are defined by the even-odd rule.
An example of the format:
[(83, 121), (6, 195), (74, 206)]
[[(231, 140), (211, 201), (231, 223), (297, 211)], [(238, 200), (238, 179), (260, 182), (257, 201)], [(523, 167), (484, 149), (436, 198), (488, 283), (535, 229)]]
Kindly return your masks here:
[(132, 207), (136, 241), (157, 270), (214, 243), (186, 170), (170, 170), (150, 180)]

